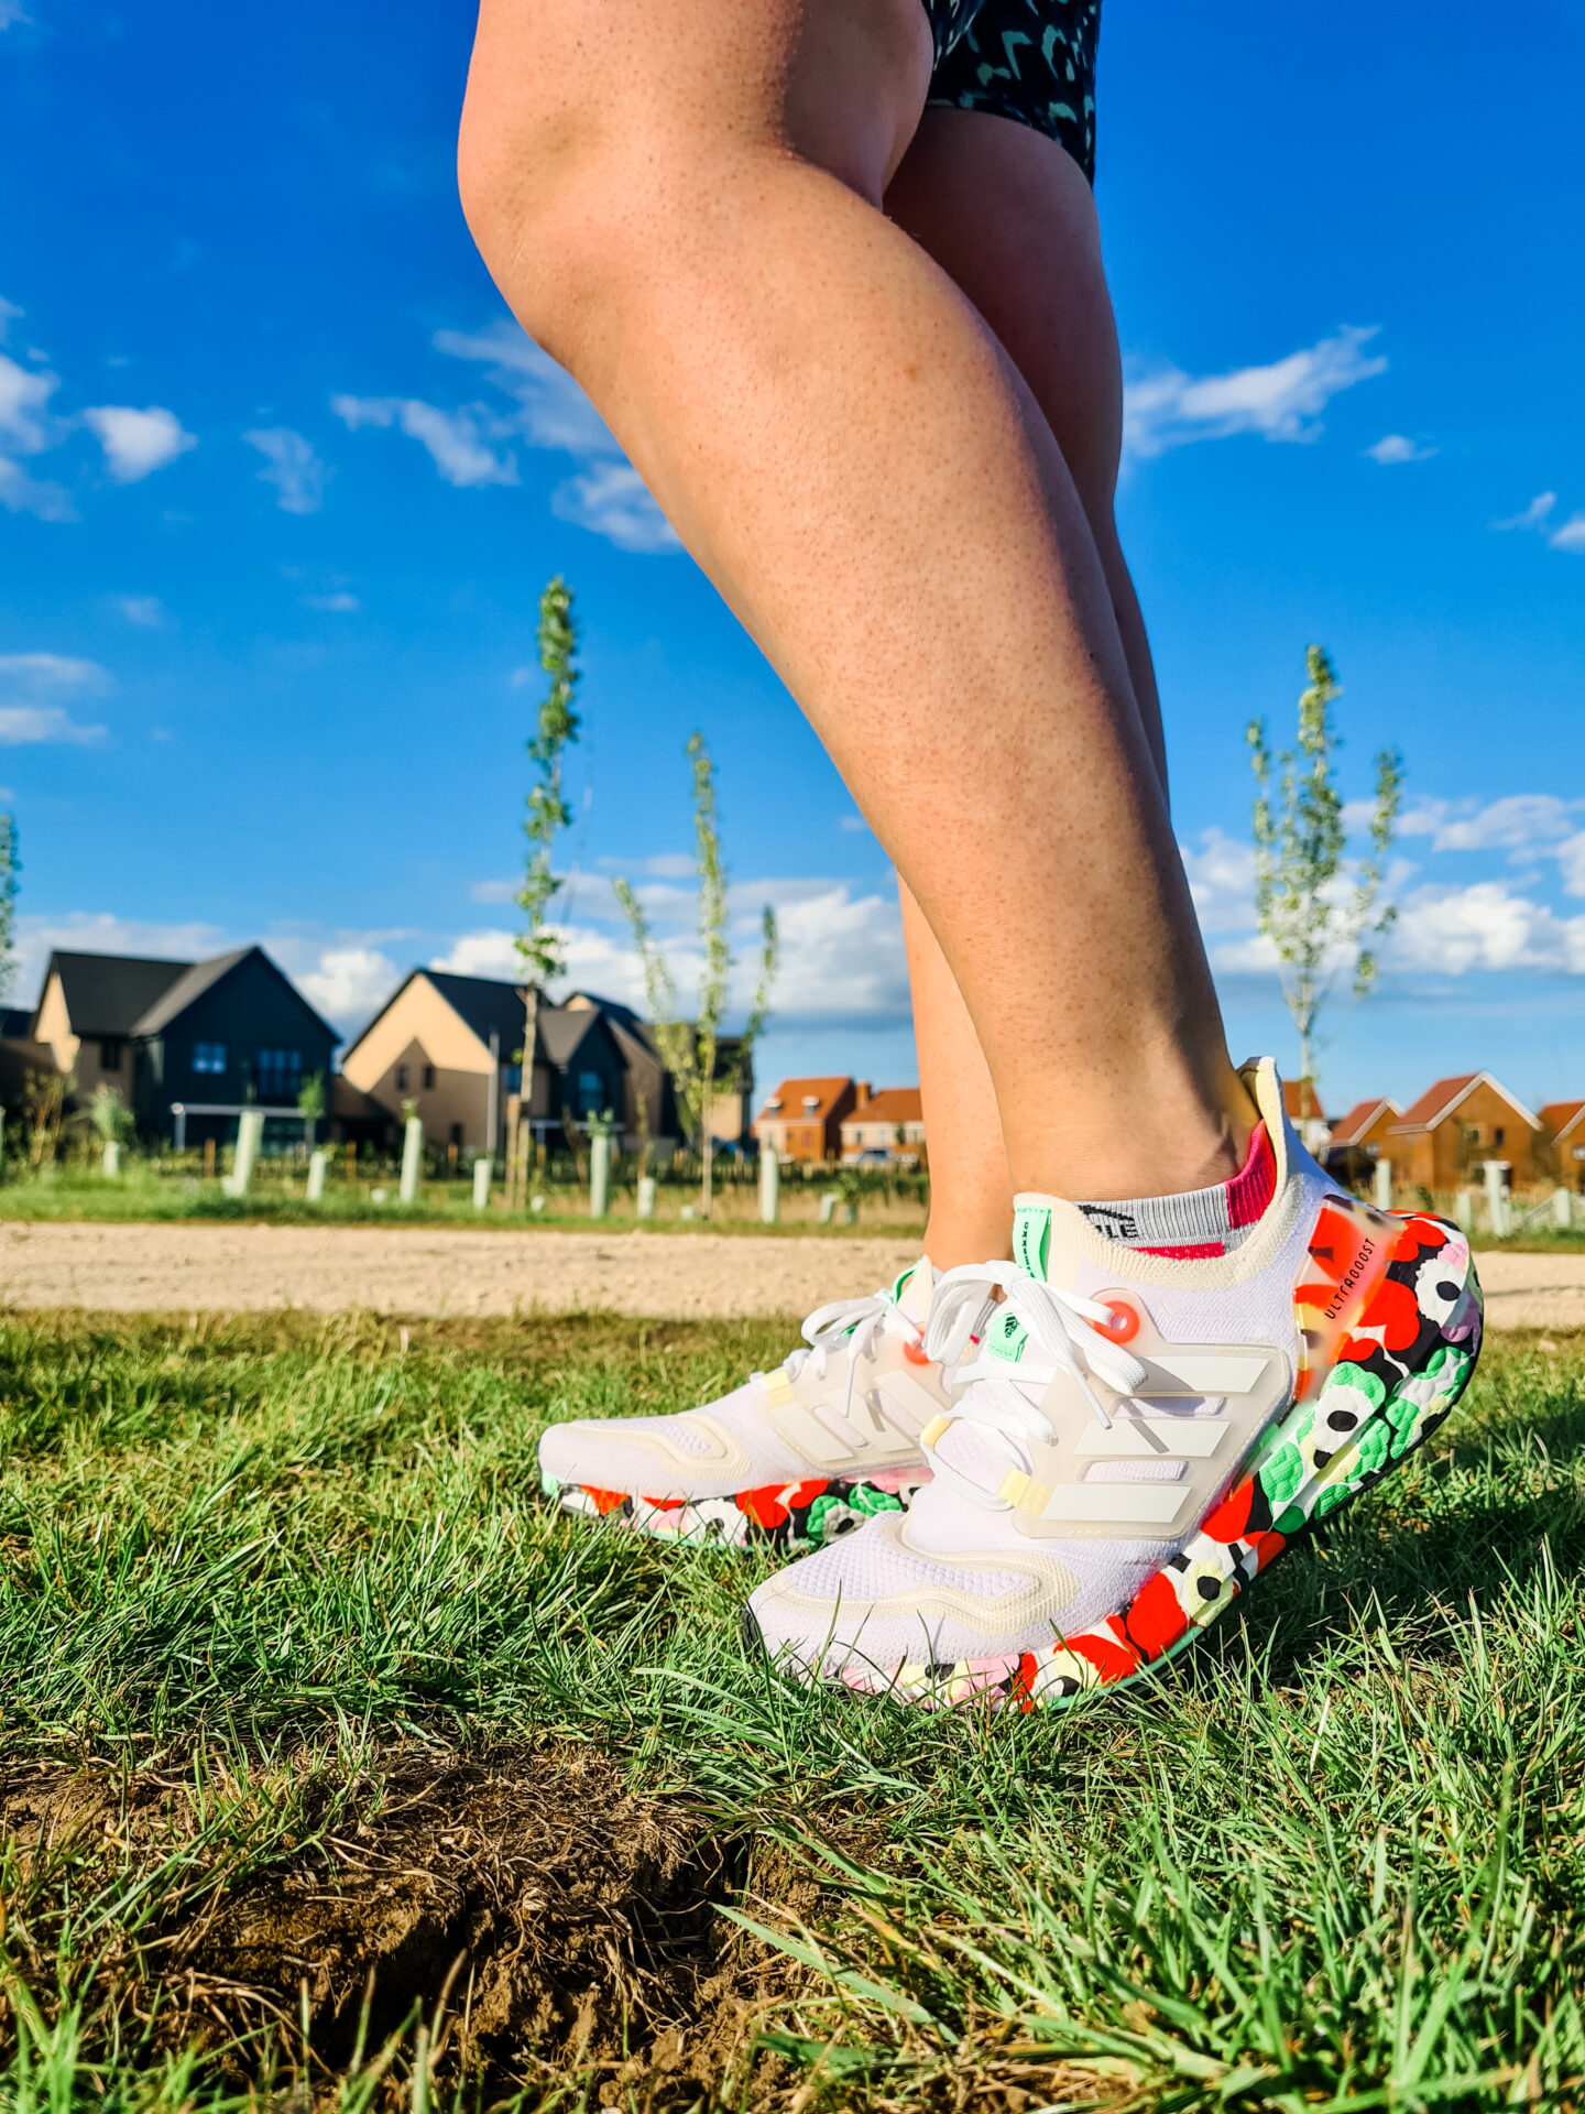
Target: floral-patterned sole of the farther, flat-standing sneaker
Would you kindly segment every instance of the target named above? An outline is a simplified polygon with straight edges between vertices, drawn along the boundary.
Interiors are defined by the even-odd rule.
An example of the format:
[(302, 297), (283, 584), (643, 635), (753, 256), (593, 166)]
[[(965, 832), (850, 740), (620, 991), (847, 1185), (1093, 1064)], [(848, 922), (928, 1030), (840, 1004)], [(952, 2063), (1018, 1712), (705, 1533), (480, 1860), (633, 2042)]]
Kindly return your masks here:
[(902, 1469), (898, 1488), (845, 1476), (769, 1482), (731, 1497), (666, 1499), (541, 1476), (547, 1497), (581, 1520), (611, 1520), (655, 1541), (716, 1541), (731, 1550), (818, 1550), (877, 1512), (907, 1512), (930, 1471)]

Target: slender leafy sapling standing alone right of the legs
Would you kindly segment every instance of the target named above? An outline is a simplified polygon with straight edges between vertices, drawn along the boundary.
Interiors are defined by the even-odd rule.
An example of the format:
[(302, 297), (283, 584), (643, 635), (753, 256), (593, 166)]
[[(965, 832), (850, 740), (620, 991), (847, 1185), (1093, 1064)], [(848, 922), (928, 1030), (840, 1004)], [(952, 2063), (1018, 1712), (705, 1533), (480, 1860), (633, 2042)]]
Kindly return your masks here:
[[(1247, 729), (1255, 772), (1255, 917), (1283, 964), (1283, 998), (1300, 1032), (1300, 1116), (1314, 1078), (1314, 1023), (1342, 968), (1353, 968), (1355, 998), (1376, 983), (1369, 941), (1397, 917), (1382, 901), (1386, 850), (1403, 799), (1403, 757), (1382, 748), (1376, 757), (1376, 799), (1369, 850), (1346, 860), (1348, 831), (1334, 765), (1342, 738), (1331, 723), (1340, 696), (1338, 676), (1323, 647), (1308, 647), (1310, 676), (1300, 696), (1293, 748), (1272, 757), (1266, 721)], [(1272, 793), (1276, 765), (1276, 793)]]

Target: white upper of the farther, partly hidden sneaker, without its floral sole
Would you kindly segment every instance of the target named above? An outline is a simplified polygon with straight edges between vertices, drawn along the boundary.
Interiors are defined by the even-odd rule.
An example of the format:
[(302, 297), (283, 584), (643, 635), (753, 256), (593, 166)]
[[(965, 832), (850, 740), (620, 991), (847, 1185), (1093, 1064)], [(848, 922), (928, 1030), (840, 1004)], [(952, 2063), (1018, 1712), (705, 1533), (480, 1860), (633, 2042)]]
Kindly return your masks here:
[(539, 1442), (541, 1473), (556, 1486), (657, 1501), (822, 1478), (917, 1484), (919, 1433), (951, 1399), (924, 1351), (932, 1292), (926, 1260), (888, 1292), (820, 1306), (782, 1366), (697, 1410), (552, 1425)]

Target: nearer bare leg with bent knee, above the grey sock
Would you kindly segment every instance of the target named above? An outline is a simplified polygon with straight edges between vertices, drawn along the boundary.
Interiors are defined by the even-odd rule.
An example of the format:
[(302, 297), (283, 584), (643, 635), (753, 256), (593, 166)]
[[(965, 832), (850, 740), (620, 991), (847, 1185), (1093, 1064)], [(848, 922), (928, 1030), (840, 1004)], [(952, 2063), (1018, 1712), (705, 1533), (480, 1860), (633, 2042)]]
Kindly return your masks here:
[(486, 0), (463, 188), (809, 715), (968, 1002), (1017, 1186), (1228, 1175), (1251, 1110), (1103, 564), (1029, 389), (879, 211), (913, 0)]

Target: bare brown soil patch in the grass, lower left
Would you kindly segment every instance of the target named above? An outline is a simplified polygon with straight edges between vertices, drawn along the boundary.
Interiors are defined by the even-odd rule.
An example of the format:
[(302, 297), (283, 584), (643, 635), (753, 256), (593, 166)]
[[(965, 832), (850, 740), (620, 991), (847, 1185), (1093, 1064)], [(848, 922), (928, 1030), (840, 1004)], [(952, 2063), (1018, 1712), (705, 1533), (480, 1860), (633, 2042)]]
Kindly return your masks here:
[[(285, 1831), (281, 1820), (285, 1816)], [(110, 1907), (156, 1875), (154, 1913), (112, 1941), (106, 2006), (156, 2042), (258, 2036), (342, 2070), (404, 2025), (437, 2076), (490, 2087), (604, 2072), (607, 2097), (691, 2103), (750, 2059), (786, 1968), (719, 1915), (746, 1846), (680, 1801), (626, 1791), (581, 1748), (406, 1750), (336, 1782), (0, 1772), (13, 1837), (13, 1945), (51, 1987), (51, 1903)], [(114, 1913), (112, 1926), (123, 1922)], [(759, 1958), (754, 1958), (759, 1955)], [(765, 2067), (765, 2057), (759, 2057)]]

